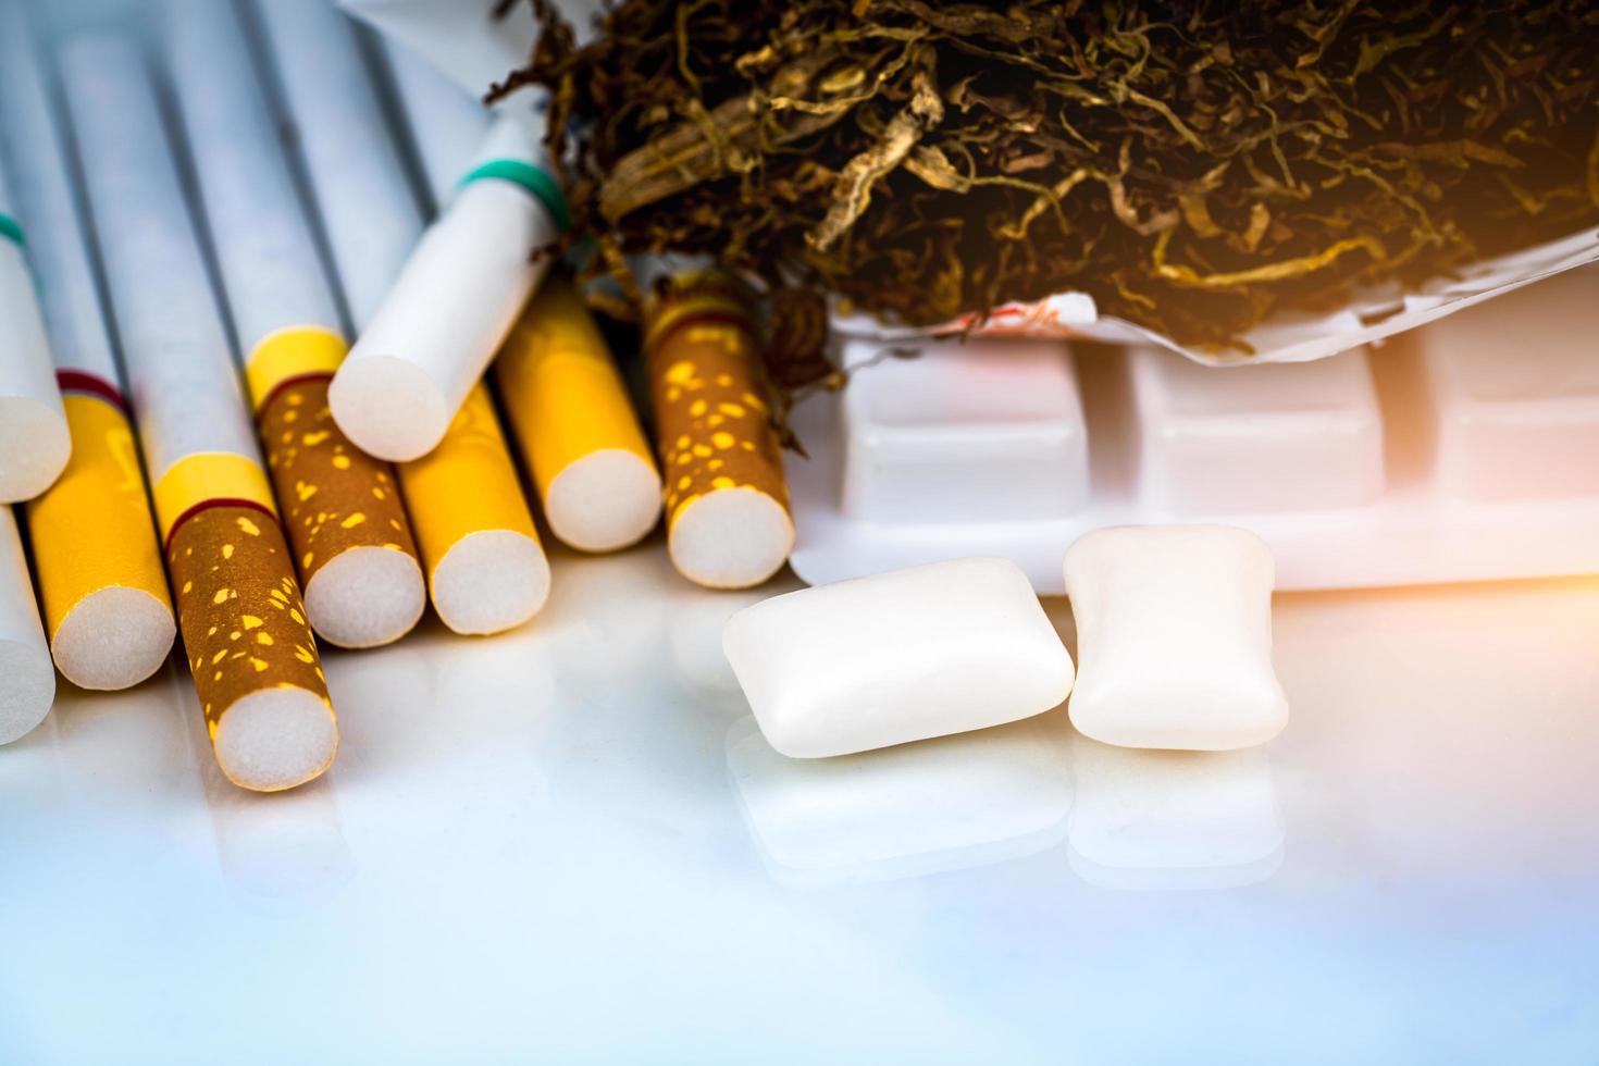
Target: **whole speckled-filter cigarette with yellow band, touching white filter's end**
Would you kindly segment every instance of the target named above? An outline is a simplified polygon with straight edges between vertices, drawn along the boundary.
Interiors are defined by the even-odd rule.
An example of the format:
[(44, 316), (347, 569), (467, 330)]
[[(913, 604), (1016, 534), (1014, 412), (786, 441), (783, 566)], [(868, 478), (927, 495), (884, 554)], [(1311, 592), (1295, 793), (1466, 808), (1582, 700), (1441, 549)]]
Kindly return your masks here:
[(312, 628), (341, 647), (389, 644), (422, 617), (422, 566), (393, 468), (328, 408), (347, 345), (243, 26), (213, 0), (168, 0), (168, 14), (177, 110)]

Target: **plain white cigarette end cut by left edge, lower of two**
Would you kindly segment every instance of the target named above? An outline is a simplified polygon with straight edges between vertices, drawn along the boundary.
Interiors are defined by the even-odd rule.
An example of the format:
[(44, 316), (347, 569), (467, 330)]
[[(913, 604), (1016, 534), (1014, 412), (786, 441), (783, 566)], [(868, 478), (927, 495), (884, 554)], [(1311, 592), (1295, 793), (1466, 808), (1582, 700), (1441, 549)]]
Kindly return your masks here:
[(27, 577), (16, 516), (0, 505), (0, 745), (26, 737), (56, 698), (45, 630)]

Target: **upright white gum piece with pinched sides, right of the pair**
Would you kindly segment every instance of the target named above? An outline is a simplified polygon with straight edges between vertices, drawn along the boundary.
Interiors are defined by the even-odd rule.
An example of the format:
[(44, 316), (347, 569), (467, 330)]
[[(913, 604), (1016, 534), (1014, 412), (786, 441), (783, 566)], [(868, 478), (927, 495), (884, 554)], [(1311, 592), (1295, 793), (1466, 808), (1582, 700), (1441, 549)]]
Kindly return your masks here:
[(1124, 748), (1225, 751), (1271, 740), (1271, 550), (1231, 526), (1119, 526), (1067, 551), (1078, 623), (1071, 724)]

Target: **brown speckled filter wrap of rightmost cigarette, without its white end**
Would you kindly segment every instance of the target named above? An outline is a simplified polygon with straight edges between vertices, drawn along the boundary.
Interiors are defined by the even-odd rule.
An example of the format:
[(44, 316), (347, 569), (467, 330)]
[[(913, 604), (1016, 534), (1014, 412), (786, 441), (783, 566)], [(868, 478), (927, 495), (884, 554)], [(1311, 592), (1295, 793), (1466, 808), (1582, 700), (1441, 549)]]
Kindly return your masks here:
[(737, 283), (716, 272), (672, 280), (651, 308), (644, 348), (668, 532), (689, 503), (718, 489), (756, 489), (788, 510), (755, 326)]

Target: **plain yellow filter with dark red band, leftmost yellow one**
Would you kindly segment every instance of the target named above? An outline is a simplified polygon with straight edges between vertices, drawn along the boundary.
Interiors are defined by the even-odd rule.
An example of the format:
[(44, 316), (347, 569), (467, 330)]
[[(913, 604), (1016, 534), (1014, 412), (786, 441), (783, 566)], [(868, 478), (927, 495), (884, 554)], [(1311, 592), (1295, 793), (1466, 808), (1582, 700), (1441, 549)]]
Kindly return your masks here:
[(122, 393), (59, 371), (72, 459), (27, 505), (56, 668), (83, 689), (126, 689), (166, 662), (177, 625)]

